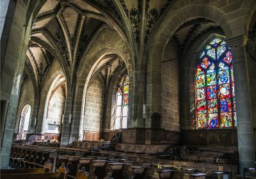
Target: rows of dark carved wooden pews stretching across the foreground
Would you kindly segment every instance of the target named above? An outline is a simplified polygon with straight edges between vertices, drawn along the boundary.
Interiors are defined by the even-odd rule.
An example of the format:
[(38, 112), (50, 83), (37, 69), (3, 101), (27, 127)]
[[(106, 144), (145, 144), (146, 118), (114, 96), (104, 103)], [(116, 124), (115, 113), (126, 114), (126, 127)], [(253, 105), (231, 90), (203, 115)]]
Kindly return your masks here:
[[(236, 167), (228, 169), (213, 164), (155, 159), (152, 155), (132, 153), (90, 152), (74, 148), (47, 148), (33, 145), (13, 145), (10, 166), (15, 168), (44, 167), (51, 163), (51, 171), (63, 167), (68, 178), (76, 178), (84, 171), (90, 178), (229, 178), (236, 177)], [(207, 169), (207, 166), (209, 168)], [(214, 167), (212, 167), (214, 166)], [(222, 169), (221, 169), (222, 168)], [(219, 171), (219, 170), (220, 171)], [(234, 170), (234, 171), (233, 171)], [(233, 172), (233, 173), (232, 173)]]

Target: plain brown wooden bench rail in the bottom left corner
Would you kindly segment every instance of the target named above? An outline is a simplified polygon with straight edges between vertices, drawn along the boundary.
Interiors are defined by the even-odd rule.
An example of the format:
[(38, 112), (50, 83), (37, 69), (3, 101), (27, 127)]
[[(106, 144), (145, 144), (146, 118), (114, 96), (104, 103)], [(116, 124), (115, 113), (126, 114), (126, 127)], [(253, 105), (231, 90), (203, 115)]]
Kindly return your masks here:
[[(22, 174), (22, 173), (49, 173), (48, 168), (35, 168), (35, 169), (0, 169), (0, 174)], [(0, 177), (1, 178), (1, 177)]]

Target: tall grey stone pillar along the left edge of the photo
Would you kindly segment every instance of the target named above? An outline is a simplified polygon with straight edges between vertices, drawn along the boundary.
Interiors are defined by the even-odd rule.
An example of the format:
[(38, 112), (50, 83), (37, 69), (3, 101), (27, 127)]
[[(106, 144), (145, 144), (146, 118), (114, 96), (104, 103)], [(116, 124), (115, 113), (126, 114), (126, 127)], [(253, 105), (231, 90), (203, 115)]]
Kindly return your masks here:
[[(1, 136), (3, 144), (0, 152), (0, 168), (7, 168), (9, 167), (20, 92), (20, 82), (18, 82), (19, 80), (15, 82), (15, 74), (16, 79), (19, 77), (22, 79), (28, 47), (28, 31), (24, 27), (26, 7), (22, 1), (0, 1), (0, 7), (1, 84), (4, 84), (1, 85), (0, 91), (1, 100), (9, 101), (4, 134)], [(15, 84), (16, 90), (12, 93), (13, 84)]]

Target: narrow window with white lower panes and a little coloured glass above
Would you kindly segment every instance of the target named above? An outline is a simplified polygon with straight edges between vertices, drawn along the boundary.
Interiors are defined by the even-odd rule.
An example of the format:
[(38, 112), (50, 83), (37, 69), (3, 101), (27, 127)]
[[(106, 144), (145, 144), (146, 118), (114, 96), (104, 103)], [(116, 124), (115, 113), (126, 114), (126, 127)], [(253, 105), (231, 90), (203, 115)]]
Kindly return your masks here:
[(116, 91), (116, 111), (115, 121), (113, 123), (114, 130), (120, 128), (127, 128), (128, 116), (128, 96), (129, 96), (129, 77), (124, 75), (118, 84)]

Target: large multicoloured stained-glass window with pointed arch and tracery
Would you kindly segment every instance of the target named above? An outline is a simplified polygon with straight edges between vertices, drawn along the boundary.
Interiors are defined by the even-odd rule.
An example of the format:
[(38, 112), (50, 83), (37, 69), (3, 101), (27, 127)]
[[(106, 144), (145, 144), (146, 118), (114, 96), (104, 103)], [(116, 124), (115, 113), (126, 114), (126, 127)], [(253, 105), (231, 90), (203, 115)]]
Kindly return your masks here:
[(230, 47), (214, 37), (200, 54), (195, 74), (196, 128), (236, 127), (236, 100)]

